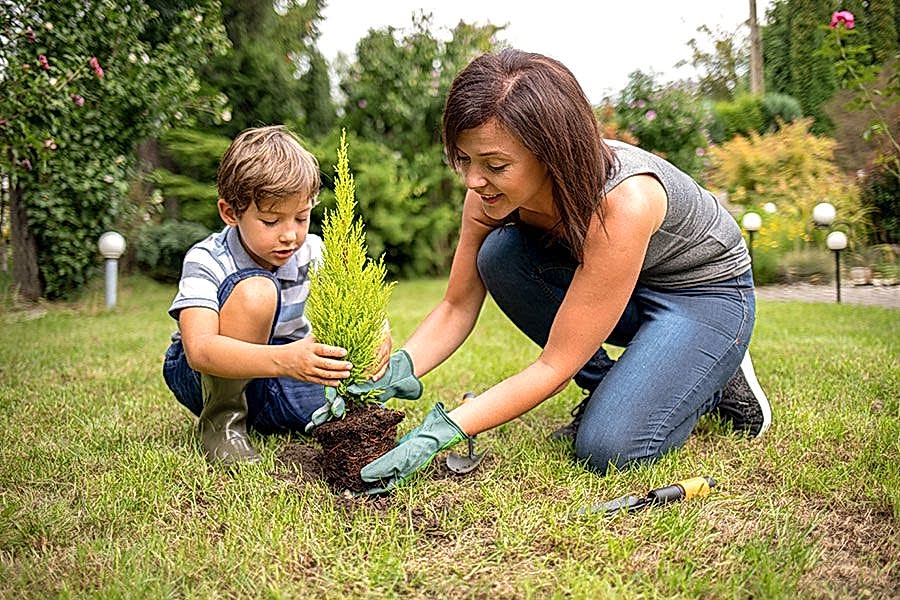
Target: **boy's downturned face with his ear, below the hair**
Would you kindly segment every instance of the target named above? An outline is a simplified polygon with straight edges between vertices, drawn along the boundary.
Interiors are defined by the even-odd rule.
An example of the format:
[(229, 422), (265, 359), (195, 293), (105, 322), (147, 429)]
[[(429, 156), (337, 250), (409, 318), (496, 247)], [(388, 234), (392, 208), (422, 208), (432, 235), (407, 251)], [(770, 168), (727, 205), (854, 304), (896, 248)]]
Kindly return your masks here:
[(247, 253), (261, 267), (274, 271), (290, 260), (306, 240), (313, 203), (301, 194), (280, 200), (251, 202), (237, 217), (227, 202), (219, 198), (219, 215), (237, 227)]

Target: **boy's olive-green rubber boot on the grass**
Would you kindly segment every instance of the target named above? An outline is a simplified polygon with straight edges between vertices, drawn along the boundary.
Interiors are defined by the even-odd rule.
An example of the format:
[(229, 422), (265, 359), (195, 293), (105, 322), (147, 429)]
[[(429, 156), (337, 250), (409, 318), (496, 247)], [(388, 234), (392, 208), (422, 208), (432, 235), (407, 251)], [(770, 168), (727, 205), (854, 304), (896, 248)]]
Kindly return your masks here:
[(210, 464), (231, 467), (262, 460), (247, 438), (247, 397), (249, 379), (225, 379), (200, 374), (203, 411), (200, 413), (200, 440)]

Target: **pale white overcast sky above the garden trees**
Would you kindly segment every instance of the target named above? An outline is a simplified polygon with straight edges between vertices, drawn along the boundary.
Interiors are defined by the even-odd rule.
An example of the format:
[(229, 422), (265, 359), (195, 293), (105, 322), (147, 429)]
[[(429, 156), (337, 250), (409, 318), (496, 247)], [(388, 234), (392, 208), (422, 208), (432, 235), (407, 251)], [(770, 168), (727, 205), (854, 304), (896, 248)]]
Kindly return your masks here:
[[(760, 23), (771, 3), (757, 0)], [(690, 77), (691, 67), (675, 64), (690, 59), (691, 38), (706, 39), (697, 27), (731, 32), (750, 14), (749, 0), (329, 0), (319, 50), (329, 61), (339, 52), (352, 56), (369, 29), (409, 30), (420, 10), (432, 15), (437, 37), (449, 38), (460, 20), (506, 24), (501, 38), (562, 61), (594, 104), (615, 95), (638, 69), (656, 73), (661, 83)]]

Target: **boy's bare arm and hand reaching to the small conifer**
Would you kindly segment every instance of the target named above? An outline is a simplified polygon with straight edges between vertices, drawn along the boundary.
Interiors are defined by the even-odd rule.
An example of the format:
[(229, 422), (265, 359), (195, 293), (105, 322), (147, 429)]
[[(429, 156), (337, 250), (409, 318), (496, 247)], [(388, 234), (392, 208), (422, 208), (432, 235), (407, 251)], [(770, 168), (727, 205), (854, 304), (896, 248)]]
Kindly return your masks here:
[(347, 351), (319, 344), (309, 336), (280, 346), (247, 342), (219, 333), (219, 314), (209, 308), (186, 308), (179, 315), (188, 363), (195, 371), (230, 379), (293, 377), (336, 386), (349, 377)]

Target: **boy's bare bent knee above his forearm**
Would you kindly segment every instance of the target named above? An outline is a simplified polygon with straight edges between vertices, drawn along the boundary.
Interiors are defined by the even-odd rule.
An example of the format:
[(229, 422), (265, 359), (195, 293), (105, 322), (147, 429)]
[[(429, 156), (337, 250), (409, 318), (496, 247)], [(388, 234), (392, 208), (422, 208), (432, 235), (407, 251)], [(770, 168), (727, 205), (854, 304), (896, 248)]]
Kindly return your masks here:
[(267, 277), (248, 277), (238, 282), (219, 309), (219, 333), (264, 344), (278, 310), (277, 284)]

